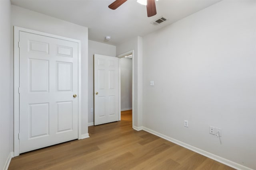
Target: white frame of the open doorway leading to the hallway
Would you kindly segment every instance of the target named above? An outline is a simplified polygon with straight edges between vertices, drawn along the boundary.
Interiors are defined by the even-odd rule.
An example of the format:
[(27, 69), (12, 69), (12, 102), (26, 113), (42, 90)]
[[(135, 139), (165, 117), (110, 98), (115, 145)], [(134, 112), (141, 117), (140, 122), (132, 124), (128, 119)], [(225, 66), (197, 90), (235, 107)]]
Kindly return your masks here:
[(119, 86), (119, 121), (121, 120), (121, 64), (120, 64), (120, 59), (132, 54), (132, 129), (134, 129), (134, 50), (131, 51), (127, 51), (125, 53), (122, 53), (120, 55), (118, 55), (117, 57), (119, 58), (118, 60), (118, 67), (119, 67), (119, 82), (118, 82), (118, 86)]

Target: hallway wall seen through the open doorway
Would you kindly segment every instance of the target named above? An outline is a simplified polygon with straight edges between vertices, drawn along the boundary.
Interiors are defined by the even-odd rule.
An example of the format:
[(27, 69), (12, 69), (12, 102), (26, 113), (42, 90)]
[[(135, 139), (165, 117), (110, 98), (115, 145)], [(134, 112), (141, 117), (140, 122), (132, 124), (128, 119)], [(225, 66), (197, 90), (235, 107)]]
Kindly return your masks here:
[(132, 60), (120, 59), (121, 111), (132, 109)]

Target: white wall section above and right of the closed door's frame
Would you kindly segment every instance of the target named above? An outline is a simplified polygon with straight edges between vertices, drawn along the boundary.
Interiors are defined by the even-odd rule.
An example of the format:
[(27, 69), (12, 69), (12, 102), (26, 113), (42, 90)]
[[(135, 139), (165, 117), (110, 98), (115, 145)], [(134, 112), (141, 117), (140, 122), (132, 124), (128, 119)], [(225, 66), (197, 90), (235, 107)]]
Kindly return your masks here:
[[(12, 25), (78, 39), (82, 52), (82, 134), (88, 133), (88, 28), (12, 5)], [(13, 68), (11, 68), (13, 69)]]

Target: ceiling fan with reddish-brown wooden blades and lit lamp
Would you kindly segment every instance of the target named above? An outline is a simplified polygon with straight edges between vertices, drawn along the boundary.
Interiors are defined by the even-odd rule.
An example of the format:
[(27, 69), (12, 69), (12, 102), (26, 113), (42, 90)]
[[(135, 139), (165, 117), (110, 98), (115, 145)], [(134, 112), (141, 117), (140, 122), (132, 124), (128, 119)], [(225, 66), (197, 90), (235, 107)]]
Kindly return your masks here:
[[(126, 1), (127, 0), (115, 0), (112, 4), (110, 4), (108, 6), (108, 8), (110, 8), (112, 10), (115, 10), (116, 8), (118, 8), (119, 6), (124, 4), (124, 2), (126, 2)], [(152, 17), (152, 16), (156, 15), (156, 2), (155, 2), (155, 0), (137, 0), (137, 2), (147, 6), (148, 17)]]

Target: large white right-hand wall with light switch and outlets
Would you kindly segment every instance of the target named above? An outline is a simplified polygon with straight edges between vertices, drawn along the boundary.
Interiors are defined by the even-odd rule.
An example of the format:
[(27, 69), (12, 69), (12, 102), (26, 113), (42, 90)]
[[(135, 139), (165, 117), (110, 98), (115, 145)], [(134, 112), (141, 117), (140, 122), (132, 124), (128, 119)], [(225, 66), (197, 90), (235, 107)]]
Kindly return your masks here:
[(143, 49), (143, 126), (256, 169), (256, 1), (221, 1), (143, 37)]

